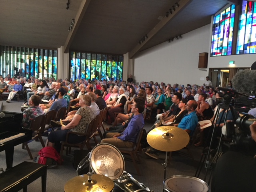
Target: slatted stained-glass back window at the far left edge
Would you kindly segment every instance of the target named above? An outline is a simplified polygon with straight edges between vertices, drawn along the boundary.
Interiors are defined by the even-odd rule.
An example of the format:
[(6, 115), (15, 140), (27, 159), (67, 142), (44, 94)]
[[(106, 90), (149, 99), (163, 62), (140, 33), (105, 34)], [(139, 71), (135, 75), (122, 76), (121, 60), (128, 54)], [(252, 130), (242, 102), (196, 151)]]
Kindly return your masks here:
[(0, 68), (3, 77), (22, 69), (27, 78), (57, 78), (57, 50), (0, 46)]

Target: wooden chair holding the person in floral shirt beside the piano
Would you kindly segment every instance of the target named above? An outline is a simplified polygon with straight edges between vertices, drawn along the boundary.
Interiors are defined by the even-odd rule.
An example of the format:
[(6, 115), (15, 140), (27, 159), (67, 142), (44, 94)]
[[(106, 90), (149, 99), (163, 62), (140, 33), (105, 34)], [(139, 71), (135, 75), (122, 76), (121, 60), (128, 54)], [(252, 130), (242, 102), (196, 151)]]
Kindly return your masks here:
[(44, 130), (44, 123), (45, 123), (44, 120), (45, 120), (45, 115), (43, 114), (43, 115), (37, 116), (34, 120), (31, 121), (29, 129), (33, 131), (32, 139), (27, 142), (22, 143), (22, 149), (24, 149), (26, 146), (26, 150), (28, 151), (30, 159), (33, 159), (33, 157), (30, 152), (30, 149), (28, 147), (28, 143), (32, 142), (36, 138), (39, 138), (39, 140), (42, 144), (42, 147), (45, 147), (42, 137), (38, 135), (42, 130)]

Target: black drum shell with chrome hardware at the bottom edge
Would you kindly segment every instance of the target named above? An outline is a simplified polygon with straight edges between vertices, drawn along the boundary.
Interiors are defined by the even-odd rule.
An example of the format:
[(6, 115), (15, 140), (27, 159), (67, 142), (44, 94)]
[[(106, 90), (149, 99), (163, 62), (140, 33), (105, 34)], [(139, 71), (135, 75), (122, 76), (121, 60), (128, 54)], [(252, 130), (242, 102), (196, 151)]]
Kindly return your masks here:
[(114, 181), (112, 192), (146, 192), (150, 191), (144, 184), (139, 183), (130, 174), (124, 173)]

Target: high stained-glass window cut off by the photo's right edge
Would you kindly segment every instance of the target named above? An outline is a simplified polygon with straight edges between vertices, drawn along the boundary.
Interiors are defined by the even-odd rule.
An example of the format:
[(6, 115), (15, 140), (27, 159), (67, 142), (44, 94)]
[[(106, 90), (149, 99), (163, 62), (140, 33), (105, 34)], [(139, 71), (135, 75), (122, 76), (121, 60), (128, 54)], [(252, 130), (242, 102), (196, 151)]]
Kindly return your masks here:
[(256, 3), (242, 1), (236, 54), (256, 53)]

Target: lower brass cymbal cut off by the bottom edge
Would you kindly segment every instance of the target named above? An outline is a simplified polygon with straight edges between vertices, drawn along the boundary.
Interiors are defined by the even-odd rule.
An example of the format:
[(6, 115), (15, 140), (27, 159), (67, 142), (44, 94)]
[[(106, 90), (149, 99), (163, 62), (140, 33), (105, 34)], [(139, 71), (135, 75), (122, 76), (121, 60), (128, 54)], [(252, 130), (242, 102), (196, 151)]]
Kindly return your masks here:
[(76, 176), (64, 186), (65, 192), (110, 192), (114, 188), (114, 182), (104, 176), (98, 174), (92, 174), (92, 181), (88, 182), (88, 175), (79, 175)]

